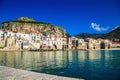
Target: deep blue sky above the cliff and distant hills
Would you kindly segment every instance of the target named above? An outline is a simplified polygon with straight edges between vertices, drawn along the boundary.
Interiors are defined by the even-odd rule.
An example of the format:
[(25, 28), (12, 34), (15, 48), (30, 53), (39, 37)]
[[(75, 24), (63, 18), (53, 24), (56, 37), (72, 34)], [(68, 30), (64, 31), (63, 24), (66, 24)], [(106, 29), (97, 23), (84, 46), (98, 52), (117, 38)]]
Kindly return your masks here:
[(108, 33), (120, 25), (119, 0), (0, 0), (0, 23), (30, 17), (67, 33)]

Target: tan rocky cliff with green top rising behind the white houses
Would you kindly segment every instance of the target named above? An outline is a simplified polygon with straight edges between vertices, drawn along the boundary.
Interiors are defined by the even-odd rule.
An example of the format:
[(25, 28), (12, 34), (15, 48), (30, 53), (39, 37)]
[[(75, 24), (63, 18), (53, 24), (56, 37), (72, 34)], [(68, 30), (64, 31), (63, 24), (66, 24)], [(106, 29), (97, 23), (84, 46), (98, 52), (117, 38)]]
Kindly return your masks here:
[(65, 29), (52, 24), (37, 22), (31, 18), (21, 17), (16, 21), (2, 23), (3, 31), (21, 33), (42, 33), (43, 35), (65, 36)]

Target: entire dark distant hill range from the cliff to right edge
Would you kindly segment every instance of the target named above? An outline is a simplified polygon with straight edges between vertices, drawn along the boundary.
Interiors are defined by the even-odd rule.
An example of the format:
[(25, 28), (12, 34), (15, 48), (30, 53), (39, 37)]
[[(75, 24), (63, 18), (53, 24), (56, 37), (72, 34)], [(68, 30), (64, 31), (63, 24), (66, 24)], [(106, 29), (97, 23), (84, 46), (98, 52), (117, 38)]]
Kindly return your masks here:
[(120, 39), (120, 27), (116, 28), (115, 30), (107, 33), (107, 34), (89, 34), (89, 33), (81, 33), (76, 35), (75, 37), (78, 38), (105, 38), (105, 39)]

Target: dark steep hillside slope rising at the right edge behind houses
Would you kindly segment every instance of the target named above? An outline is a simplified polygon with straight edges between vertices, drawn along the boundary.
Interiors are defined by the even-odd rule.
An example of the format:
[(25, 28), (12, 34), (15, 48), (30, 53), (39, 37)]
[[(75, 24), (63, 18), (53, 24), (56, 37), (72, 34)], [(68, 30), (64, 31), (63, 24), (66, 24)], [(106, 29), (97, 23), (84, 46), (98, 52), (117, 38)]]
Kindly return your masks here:
[(120, 27), (106, 34), (107, 39), (120, 39)]

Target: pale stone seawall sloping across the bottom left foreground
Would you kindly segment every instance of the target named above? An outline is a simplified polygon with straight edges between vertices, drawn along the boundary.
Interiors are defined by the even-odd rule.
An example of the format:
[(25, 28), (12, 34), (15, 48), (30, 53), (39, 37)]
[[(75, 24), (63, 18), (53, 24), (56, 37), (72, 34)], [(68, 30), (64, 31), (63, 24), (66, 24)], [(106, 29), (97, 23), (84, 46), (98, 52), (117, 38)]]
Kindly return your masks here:
[(84, 80), (0, 66), (0, 80)]

